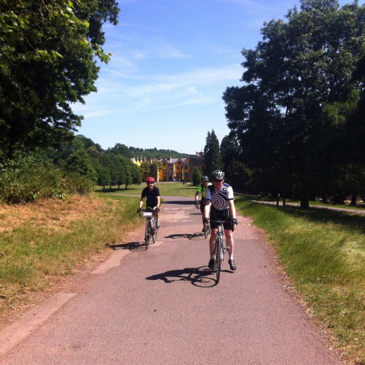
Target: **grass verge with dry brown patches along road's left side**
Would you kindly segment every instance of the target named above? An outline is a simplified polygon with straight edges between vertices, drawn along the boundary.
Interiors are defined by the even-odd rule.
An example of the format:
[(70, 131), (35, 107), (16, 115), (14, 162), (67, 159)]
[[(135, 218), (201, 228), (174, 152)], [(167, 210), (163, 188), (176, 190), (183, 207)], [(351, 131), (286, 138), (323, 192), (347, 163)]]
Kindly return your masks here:
[(55, 200), (49, 200), (31, 203), (34, 215), (30, 217), (24, 214), (29, 204), (8, 206), (8, 213), (1, 206), (2, 220), (9, 221), (9, 226), (15, 214), (12, 209), (17, 221), (23, 216), (23, 222), (0, 235), (0, 318), (25, 306), (34, 293), (69, 275), (106, 245), (124, 241), (144, 223), (136, 214), (138, 200), (102, 194), (72, 197), (56, 200), (58, 210), (52, 215), (48, 209)]

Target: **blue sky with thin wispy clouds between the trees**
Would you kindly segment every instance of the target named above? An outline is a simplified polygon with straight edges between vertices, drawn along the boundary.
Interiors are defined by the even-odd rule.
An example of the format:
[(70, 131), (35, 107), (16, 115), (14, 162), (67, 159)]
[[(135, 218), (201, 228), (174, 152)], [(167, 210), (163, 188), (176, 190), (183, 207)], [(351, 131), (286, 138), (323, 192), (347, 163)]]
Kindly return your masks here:
[(264, 21), (283, 19), (294, 5), (299, 0), (120, 0), (119, 24), (103, 28), (113, 56), (101, 64), (98, 91), (73, 107), (85, 117), (77, 134), (103, 149), (122, 143), (186, 154), (203, 150), (212, 129), (221, 142), (229, 133), (222, 94), (241, 84), (241, 50), (262, 39)]

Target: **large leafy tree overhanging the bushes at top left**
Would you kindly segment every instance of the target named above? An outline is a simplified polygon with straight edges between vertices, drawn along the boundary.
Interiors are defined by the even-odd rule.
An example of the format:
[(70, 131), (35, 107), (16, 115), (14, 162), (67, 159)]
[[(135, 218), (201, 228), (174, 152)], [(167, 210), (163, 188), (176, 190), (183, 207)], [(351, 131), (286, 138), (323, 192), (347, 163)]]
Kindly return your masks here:
[(96, 91), (95, 57), (110, 56), (102, 24), (117, 24), (118, 13), (116, 0), (0, 2), (0, 161), (80, 126), (71, 103)]

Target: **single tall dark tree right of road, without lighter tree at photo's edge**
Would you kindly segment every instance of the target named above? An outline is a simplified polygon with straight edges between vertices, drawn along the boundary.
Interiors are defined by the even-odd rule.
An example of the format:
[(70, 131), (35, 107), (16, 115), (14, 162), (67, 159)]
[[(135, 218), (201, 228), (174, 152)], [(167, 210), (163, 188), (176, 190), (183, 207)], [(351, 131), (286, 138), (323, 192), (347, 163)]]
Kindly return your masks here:
[(302, 0), (287, 22), (264, 24), (263, 40), (242, 51), (245, 85), (224, 94), (245, 164), (277, 191), (296, 191), (302, 207), (335, 171), (328, 148), (344, 129), (328, 117), (331, 105), (362, 89), (352, 72), (365, 42), (364, 15), (357, 2), (340, 8), (336, 0)]

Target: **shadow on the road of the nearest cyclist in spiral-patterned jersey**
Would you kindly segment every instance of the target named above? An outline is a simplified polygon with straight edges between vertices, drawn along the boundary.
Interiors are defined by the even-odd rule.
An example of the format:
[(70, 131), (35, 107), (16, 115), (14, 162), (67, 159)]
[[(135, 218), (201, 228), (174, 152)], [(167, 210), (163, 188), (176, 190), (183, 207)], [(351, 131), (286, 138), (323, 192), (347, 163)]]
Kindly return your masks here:
[(185, 268), (181, 270), (169, 270), (161, 274), (148, 276), (147, 280), (163, 280), (165, 283), (174, 281), (188, 281), (194, 286), (211, 287), (217, 284), (216, 280), (209, 277), (213, 273), (207, 266), (198, 268)]

